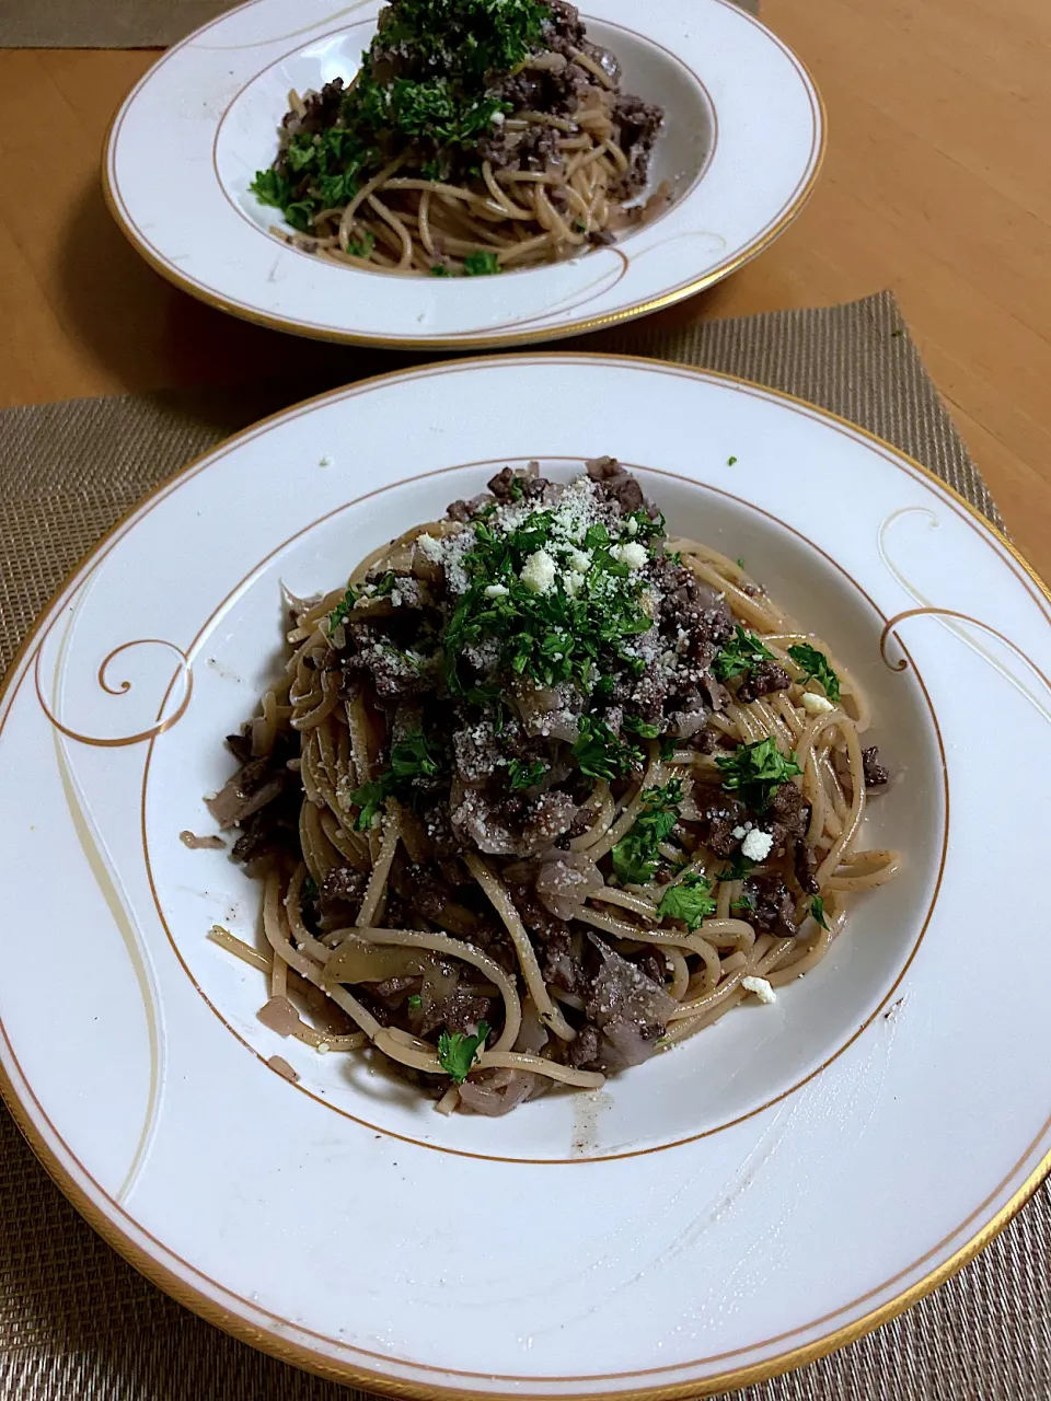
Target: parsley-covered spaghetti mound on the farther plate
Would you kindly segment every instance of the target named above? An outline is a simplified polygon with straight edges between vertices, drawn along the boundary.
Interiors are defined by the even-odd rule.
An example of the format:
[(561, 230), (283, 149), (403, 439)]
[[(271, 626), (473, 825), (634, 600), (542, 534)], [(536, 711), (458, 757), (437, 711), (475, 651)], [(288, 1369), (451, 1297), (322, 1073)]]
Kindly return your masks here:
[(356, 77), (290, 104), (252, 191), (279, 237), (360, 268), (526, 268), (667, 203), (638, 203), (660, 108), (563, 0), (392, 0)]

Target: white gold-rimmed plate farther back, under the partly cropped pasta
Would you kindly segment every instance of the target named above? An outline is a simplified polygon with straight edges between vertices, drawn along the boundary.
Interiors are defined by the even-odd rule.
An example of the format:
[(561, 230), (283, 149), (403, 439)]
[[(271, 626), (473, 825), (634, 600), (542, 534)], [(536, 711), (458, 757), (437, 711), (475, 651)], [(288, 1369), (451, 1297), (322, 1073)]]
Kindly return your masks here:
[[(614, 248), (499, 277), (392, 277), (286, 247), (248, 185), (273, 160), (289, 88), (357, 70), (380, 0), (249, 0), (168, 50), (121, 108), (109, 207), (157, 272), (280, 331), (426, 349), (558, 336), (654, 311), (727, 276), (799, 213), (821, 164), (802, 63), (730, 0), (591, 0), (625, 91), (668, 113), (652, 186), (677, 203)], [(158, 157), (163, 158), (158, 167)]]

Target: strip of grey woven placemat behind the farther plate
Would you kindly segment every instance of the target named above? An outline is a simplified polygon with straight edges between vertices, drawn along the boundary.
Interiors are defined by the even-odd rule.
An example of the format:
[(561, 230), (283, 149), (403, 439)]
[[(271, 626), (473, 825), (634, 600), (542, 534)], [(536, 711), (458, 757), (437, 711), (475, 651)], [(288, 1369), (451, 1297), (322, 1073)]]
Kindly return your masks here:
[[(0, 49), (163, 49), (240, 3), (0, 0)], [(760, 0), (734, 3), (750, 14), (760, 13)], [(289, 13), (294, 8), (289, 6)], [(334, 15), (343, 8), (345, 0), (332, 0)]]

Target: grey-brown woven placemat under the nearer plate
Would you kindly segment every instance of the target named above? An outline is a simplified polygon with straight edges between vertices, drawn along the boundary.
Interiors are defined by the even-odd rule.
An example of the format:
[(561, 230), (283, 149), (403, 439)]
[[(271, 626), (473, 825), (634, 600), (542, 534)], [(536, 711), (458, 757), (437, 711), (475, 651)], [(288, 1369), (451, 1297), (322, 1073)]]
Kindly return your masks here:
[[(998, 520), (890, 293), (682, 331), (607, 332), (580, 349), (654, 354), (788, 389), (865, 425)], [(376, 373), (394, 356), (348, 357)], [(193, 454), (325, 384), (81, 399), (0, 413), (0, 657), (63, 573)], [(702, 432), (702, 427), (698, 429)], [(1047, 1401), (1051, 1196), (963, 1274), (870, 1338), (747, 1401)], [(596, 1359), (598, 1370), (598, 1359)], [(50, 1184), (0, 1111), (4, 1401), (349, 1401), (360, 1397), (217, 1332), (140, 1278)]]

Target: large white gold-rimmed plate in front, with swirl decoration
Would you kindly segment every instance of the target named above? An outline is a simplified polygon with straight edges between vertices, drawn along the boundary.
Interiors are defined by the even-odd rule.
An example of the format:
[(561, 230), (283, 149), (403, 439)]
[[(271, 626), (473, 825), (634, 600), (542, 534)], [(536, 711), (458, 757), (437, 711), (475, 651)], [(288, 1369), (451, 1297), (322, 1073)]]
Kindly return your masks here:
[[(255, 939), (258, 888), (178, 834), (209, 829), (282, 581), (332, 584), (503, 464), (603, 453), (867, 685), (900, 773), (870, 836), (907, 867), (776, 1006), (598, 1096), (444, 1119), (256, 1020), (263, 975), (206, 934)], [(8, 678), (4, 1094), (150, 1278), (370, 1388), (695, 1395), (827, 1351), (944, 1278), (1047, 1166), (1051, 930), (1006, 901), (1044, 848), (1050, 615), (922, 468), (740, 381), (526, 354), (296, 408), (119, 525)]]

